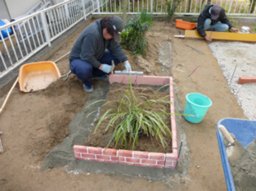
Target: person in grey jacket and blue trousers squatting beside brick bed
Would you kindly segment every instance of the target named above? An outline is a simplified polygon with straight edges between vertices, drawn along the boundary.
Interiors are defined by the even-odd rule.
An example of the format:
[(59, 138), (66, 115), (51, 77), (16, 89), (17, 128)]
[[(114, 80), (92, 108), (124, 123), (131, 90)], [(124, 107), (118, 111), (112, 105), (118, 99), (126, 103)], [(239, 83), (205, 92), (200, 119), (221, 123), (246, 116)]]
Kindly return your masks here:
[(83, 89), (93, 91), (92, 79), (108, 80), (113, 60), (124, 63), (130, 72), (129, 60), (118, 43), (123, 21), (119, 16), (106, 16), (87, 26), (78, 36), (69, 54), (70, 70), (83, 82)]

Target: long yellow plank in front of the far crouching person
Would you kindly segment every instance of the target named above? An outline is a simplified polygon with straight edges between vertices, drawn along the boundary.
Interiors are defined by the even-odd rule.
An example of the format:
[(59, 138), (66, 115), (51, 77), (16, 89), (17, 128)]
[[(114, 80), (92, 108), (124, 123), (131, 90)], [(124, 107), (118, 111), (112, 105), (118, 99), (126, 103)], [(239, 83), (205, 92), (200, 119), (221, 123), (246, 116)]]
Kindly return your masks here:
[[(206, 35), (210, 36), (212, 40), (239, 40), (239, 41), (249, 41), (256, 42), (256, 34), (251, 33), (234, 33), (234, 32), (215, 32), (206, 31)], [(185, 30), (186, 38), (200, 38), (201, 35), (197, 33), (197, 30)]]

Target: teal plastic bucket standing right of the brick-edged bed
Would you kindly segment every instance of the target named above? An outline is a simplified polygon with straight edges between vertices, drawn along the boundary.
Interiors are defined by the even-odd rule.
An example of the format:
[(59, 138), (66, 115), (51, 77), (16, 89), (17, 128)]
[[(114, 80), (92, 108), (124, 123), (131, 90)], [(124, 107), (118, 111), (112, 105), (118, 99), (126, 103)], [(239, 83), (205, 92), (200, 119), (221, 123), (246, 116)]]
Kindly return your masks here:
[(184, 118), (190, 123), (200, 123), (205, 117), (207, 109), (212, 105), (211, 100), (206, 95), (198, 93), (187, 94), (186, 100), (184, 114), (193, 116), (184, 115)]

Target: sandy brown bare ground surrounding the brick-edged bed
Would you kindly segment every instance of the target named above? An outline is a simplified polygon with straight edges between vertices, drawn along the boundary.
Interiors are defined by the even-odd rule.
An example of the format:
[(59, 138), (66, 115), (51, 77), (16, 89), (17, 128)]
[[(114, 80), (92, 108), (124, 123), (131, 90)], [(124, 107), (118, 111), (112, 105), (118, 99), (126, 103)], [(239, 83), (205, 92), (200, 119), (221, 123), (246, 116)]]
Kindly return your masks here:
[[(58, 81), (45, 91), (22, 93), (17, 85), (12, 92), (0, 115), (4, 150), (0, 155), (0, 190), (226, 190), (216, 139), (216, 123), (223, 118), (247, 119), (243, 109), (204, 40), (172, 38), (169, 43), (169, 37), (178, 35), (178, 29), (164, 22), (154, 22), (153, 29), (154, 33), (151, 31), (148, 34), (149, 52), (145, 59), (134, 58), (126, 51), (133, 70), (154, 76), (173, 74), (176, 105), (181, 112), (186, 104), (185, 96), (190, 92), (207, 95), (213, 103), (201, 123), (192, 124), (178, 118), (178, 133), (181, 137), (178, 142), (183, 141), (180, 163), (188, 162), (183, 175), (150, 181), (121, 175), (78, 173), (68, 171), (67, 166), (41, 172), (43, 157), (69, 136), (69, 123), (88, 100), (82, 82), (71, 75), (68, 81)], [(68, 53), (77, 38), (78, 35), (75, 35), (50, 60), (55, 61)], [(206, 55), (197, 54), (188, 45), (200, 49)], [(170, 51), (169, 48), (171, 58), (168, 54), (164, 55)], [(245, 51), (244, 54), (247, 53)], [(223, 54), (227, 58), (231, 56), (228, 51)], [(249, 56), (241, 55), (244, 58)], [(170, 60), (171, 66), (168, 65)], [(57, 64), (62, 74), (69, 72), (67, 58)], [(198, 64), (200, 67), (196, 72), (187, 77)], [(0, 103), (4, 98), (0, 98)]]

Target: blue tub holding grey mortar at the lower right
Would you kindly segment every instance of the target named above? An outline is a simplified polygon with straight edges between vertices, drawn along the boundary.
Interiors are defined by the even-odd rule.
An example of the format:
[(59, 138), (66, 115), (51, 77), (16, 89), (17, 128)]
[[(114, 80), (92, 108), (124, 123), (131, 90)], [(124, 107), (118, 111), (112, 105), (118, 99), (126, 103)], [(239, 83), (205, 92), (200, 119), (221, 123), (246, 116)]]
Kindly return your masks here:
[(218, 128), (220, 124), (224, 125), (229, 133), (233, 133), (235, 135), (235, 138), (243, 145), (243, 147), (246, 147), (249, 145), (250, 142), (254, 141), (254, 138), (256, 136), (256, 121), (227, 118), (220, 119), (216, 126), (220, 156), (225, 175), (225, 184), (228, 191), (235, 191), (233, 176), (230, 170), (230, 162), (225, 151), (223, 135), (222, 133), (220, 133), (220, 130)]

